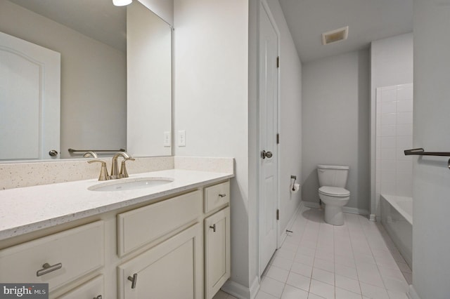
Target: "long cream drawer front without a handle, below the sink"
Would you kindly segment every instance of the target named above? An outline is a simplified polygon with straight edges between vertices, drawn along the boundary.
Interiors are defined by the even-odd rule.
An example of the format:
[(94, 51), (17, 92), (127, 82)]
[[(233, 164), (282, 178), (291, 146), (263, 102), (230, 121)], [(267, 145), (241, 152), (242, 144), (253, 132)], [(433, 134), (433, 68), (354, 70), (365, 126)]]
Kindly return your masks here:
[(117, 254), (122, 256), (202, 214), (199, 190), (117, 215)]

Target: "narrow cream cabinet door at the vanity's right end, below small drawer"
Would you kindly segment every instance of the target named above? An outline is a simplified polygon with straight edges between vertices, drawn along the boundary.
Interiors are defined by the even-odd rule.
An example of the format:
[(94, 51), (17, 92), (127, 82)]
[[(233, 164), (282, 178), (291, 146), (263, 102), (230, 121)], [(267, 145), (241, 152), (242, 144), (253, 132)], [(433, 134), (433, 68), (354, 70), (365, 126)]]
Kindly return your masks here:
[(230, 208), (205, 219), (205, 298), (210, 299), (230, 277)]

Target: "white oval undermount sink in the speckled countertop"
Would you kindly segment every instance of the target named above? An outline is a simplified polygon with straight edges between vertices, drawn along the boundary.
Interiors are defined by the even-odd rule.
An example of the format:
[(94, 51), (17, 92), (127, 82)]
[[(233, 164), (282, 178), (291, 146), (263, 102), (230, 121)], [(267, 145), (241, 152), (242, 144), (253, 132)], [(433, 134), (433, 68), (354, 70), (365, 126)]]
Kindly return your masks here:
[(88, 187), (91, 191), (125, 191), (155, 187), (173, 182), (173, 178), (126, 178), (110, 180)]

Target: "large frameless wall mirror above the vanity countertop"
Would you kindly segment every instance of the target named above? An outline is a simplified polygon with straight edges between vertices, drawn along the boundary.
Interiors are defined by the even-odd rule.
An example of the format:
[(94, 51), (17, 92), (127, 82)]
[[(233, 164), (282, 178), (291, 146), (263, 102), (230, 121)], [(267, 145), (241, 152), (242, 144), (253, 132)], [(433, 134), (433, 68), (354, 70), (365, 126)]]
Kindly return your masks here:
[[(125, 149), (135, 157), (172, 154), (172, 29), (139, 1), (117, 7), (112, 0), (0, 0), (0, 32), (60, 54), (60, 109), (53, 109), (60, 110), (60, 126), (51, 130), (59, 132), (58, 155), (50, 157), (53, 148), (36, 138), (14, 145), (3, 138), (7, 133), (19, 139), (17, 126), (29, 119), (39, 131), (53, 113), (45, 102), (22, 103), (1, 123), (0, 152), (8, 155), (0, 161), (83, 157), (84, 152), (69, 149), (111, 150), (98, 152), (107, 155)], [(3, 62), (9, 60), (4, 57)], [(0, 75), (11, 80), (16, 73), (30, 71), (9, 69)], [(21, 96), (11, 101), (0, 91), (0, 119), (6, 119), (6, 100), (11, 105)], [(31, 106), (37, 112), (27, 117)], [(34, 147), (39, 154), (21, 150)]]

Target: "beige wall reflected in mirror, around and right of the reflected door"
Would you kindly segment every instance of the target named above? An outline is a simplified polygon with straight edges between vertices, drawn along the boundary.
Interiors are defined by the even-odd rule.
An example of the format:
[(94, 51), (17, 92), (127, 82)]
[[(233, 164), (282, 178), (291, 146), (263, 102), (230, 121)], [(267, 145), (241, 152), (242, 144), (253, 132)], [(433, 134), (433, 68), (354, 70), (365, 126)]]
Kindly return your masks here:
[(61, 157), (126, 146), (125, 53), (9, 1), (0, 1), (0, 31), (61, 53)]

